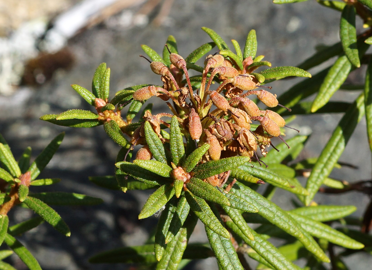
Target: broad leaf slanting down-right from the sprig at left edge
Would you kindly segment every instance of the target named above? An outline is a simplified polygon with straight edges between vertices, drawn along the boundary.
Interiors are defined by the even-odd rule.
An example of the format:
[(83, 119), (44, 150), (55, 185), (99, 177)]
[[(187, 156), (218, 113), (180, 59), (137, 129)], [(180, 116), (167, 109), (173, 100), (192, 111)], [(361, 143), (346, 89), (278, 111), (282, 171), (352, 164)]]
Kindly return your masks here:
[(37, 198), (32, 198), (30, 196), (27, 196), (23, 203), (26, 204), (33, 211), (35, 211), (36, 214), (38, 214), (46, 222), (52, 225), (57, 231), (61, 232), (61, 234), (64, 234), (66, 236), (71, 235), (70, 229), (63, 221), (61, 216), (47, 204)]

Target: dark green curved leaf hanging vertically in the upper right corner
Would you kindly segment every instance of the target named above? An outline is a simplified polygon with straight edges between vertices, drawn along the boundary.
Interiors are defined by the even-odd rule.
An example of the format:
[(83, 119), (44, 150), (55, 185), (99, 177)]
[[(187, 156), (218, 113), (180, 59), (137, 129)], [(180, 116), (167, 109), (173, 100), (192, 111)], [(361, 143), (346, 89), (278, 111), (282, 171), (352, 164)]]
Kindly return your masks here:
[(340, 38), (347, 59), (359, 68), (360, 61), (356, 45), (355, 16), (355, 7), (353, 5), (346, 5), (341, 13)]

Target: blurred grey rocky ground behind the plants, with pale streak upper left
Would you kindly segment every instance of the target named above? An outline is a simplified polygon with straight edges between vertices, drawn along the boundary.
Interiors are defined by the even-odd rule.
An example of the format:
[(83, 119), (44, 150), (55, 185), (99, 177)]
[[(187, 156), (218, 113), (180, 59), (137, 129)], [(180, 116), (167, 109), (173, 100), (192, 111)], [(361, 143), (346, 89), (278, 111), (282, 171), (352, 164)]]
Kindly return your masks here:
[[(96, 67), (106, 62), (111, 68), (111, 96), (136, 84), (159, 84), (148, 62), (138, 55), (146, 44), (161, 53), (168, 35), (177, 40), (180, 55), (186, 57), (210, 42), (202, 26), (214, 29), (227, 42), (241, 46), (248, 32), (257, 32), (259, 55), (273, 66), (298, 65), (318, 45), (339, 41), (340, 13), (316, 1), (275, 5), (271, 0), (0, 0), (0, 132), (16, 159), (23, 149), (37, 154), (58, 133), (66, 136), (41, 178), (61, 178), (57, 185), (38, 191), (85, 193), (104, 200), (94, 207), (54, 207), (71, 228), (71, 237), (42, 224), (19, 238), (44, 270), (129, 269), (123, 265), (93, 265), (94, 254), (123, 245), (143, 244), (157, 218), (138, 220), (138, 213), (151, 191), (115, 192), (94, 186), (88, 176), (113, 175), (119, 147), (101, 127), (73, 129), (39, 120), (43, 114), (58, 114), (71, 108), (92, 108), (70, 87), (90, 89)], [(361, 28), (361, 22), (359, 29)], [(216, 52), (217, 50), (213, 51)], [(316, 74), (334, 59), (311, 69)], [(348, 81), (363, 84), (365, 70), (353, 72)], [(273, 82), (272, 93), (280, 95), (301, 79)], [(334, 100), (352, 101), (357, 92), (343, 91)], [(154, 111), (167, 111), (151, 99)], [(340, 114), (297, 117), (291, 126), (310, 135), (302, 158), (317, 156), (340, 119)], [(367, 146), (365, 120), (355, 130), (341, 156), (342, 162), (358, 169), (334, 170), (331, 177), (356, 182), (371, 179), (371, 153)], [(287, 137), (295, 132), (288, 131)], [(279, 143), (279, 141), (277, 142)], [(302, 179), (305, 185), (305, 179)], [(32, 189), (31, 189), (32, 191)], [(353, 204), (360, 217), (369, 202), (366, 195), (316, 195), (319, 204)], [(273, 201), (291, 209), (291, 193), (278, 190)], [(27, 209), (13, 209), (11, 224), (31, 217)], [(203, 226), (196, 227), (190, 241), (206, 241)], [(17, 269), (26, 269), (17, 256)], [(372, 257), (358, 253), (347, 257), (350, 269), (370, 269)], [(252, 263), (254, 266), (254, 263)], [(135, 269), (135, 268), (131, 268)], [(217, 269), (214, 258), (196, 261), (189, 269)]]

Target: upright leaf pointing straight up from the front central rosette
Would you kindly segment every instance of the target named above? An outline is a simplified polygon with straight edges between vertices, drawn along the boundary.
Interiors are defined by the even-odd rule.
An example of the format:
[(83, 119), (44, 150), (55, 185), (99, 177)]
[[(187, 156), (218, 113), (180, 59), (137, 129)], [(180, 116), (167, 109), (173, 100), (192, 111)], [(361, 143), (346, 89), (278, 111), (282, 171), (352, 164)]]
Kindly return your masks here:
[(185, 146), (183, 146), (183, 139), (177, 116), (173, 116), (170, 121), (169, 144), (173, 163), (176, 166), (179, 165), (180, 162), (183, 163), (183, 159), (185, 159)]

